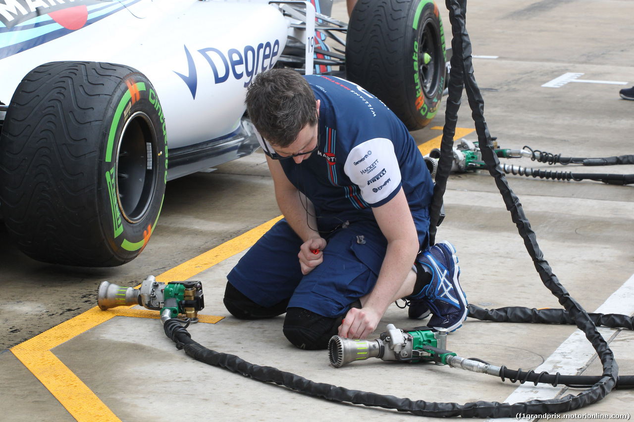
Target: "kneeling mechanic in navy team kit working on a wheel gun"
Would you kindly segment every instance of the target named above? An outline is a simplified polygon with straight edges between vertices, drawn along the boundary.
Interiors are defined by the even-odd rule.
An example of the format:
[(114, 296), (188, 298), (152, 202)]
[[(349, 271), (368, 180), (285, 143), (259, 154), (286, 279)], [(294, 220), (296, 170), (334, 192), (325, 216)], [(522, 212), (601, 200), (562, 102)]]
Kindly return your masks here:
[(399, 298), (412, 319), (460, 328), (458, 259), (429, 245), (433, 183), (398, 117), (351, 82), (287, 69), (257, 75), (246, 103), (284, 218), (228, 274), (231, 314), (286, 313), (284, 335), (306, 349), (366, 338)]

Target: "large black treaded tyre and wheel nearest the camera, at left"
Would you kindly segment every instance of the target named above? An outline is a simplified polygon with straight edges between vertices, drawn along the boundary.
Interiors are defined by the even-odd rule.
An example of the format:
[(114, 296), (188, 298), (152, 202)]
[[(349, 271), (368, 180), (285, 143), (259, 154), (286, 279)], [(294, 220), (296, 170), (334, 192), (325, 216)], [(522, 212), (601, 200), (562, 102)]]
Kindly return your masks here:
[(11, 237), (43, 262), (133, 260), (159, 218), (167, 144), (159, 99), (133, 68), (56, 62), (13, 94), (0, 138), (0, 203)]

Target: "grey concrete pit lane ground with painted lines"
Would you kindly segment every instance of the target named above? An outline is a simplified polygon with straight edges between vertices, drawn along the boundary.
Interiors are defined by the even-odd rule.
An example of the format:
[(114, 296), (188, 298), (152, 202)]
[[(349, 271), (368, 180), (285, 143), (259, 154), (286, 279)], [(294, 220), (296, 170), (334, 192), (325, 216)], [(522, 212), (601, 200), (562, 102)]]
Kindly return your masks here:
[[(448, 36), (449, 20), (443, 4), (439, 7)], [(345, 15), (342, 1), (335, 1), (333, 15)], [(516, 149), (528, 145), (564, 157), (634, 153), (634, 101), (618, 95), (619, 89), (634, 85), (631, 16), (634, 3), (618, 0), (469, 1), (467, 29), (475, 79), (484, 98), (489, 131), (498, 144)], [(583, 75), (563, 77), (566, 74)], [(413, 132), (422, 153), (437, 146), (443, 124), (444, 103), (432, 124)], [(458, 127), (456, 139), (477, 140), (466, 96)], [(554, 169), (528, 158), (502, 161)], [(634, 173), (633, 165), (557, 167), (584, 173)], [(521, 176), (508, 176), (508, 181), (545, 259), (579, 304), (588, 312), (631, 315), (634, 187)], [(541, 284), (488, 172), (453, 174), (447, 187), (446, 218), (437, 240), (456, 246), (460, 281), (469, 303), (485, 308), (559, 308), (557, 299)], [(169, 182), (152, 240), (138, 259), (122, 267), (86, 269), (35, 262), (18, 252), (6, 229), (0, 229), (0, 419), (411, 418), (396, 411), (314, 399), (207, 366), (175, 347), (160, 322), (150, 318), (157, 317), (157, 312), (96, 309), (101, 281), (136, 286), (149, 274), (161, 281), (202, 281), (205, 309), (201, 314), (215, 323), (188, 328), (197, 342), (313, 381), (459, 404), (522, 402), (581, 391), (532, 384), (518, 387), (448, 366), (380, 359), (335, 369), (328, 365), (325, 350), (307, 352), (290, 345), (281, 331), (283, 317), (235, 319), (222, 304), (226, 274), (257, 239), (257, 228), (279, 215), (266, 161), (258, 151), (214, 172)], [(413, 325), (406, 310), (392, 305), (371, 338), (388, 323), (398, 328)], [(601, 332), (609, 339), (619, 374), (634, 374), (634, 333)], [(574, 326), (467, 319), (449, 335), (448, 349), (461, 357), (512, 369), (598, 375), (598, 359), (579, 334)], [(629, 419), (633, 403), (634, 392), (614, 390), (604, 400), (561, 417)]]

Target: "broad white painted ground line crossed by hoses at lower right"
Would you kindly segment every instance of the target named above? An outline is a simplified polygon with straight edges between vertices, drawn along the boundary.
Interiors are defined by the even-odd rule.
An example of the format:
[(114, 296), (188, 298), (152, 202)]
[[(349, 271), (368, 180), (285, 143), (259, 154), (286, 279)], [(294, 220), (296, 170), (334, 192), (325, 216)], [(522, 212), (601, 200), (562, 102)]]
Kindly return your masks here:
[[(605, 300), (604, 304), (595, 310), (598, 314), (623, 314), (631, 315), (634, 313), (634, 275), (632, 275), (628, 281), (623, 283), (612, 295)], [(611, 328), (598, 328), (598, 332), (603, 338), (609, 339), (614, 333)], [(574, 333), (567, 338), (567, 340), (553, 352), (546, 361), (534, 369), (536, 373), (541, 371), (547, 371), (554, 374), (559, 372), (562, 375), (574, 375), (579, 372), (579, 369), (584, 369), (588, 361), (595, 355), (595, 350), (592, 348), (590, 342), (586, 338), (585, 334), (581, 330), (574, 331)], [(618, 356), (616, 357), (618, 361)], [(566, 386), (552, 387), (552, 385), (525, 383), (517, 387), (517, 389), (511, 393), (504, 400), (505, 403), (520, 403), (530, 400), (548, 400), (554, 399), (557, 395), (566, 388)], [(499, 418), (499, 419), (486, 419), (486, 422), (510, 422), (516, 421), (515, 418)], [(534, 419), (533, 419), (534, 420)]]

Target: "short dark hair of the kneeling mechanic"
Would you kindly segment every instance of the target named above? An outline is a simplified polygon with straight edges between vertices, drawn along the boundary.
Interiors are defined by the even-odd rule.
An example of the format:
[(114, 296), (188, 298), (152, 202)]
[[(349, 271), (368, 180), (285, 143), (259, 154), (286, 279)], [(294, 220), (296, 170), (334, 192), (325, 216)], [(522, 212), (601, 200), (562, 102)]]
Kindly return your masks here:
[(256, 76), (247, 88), (247, 113), (272, 145), (286, 148), (306, 125), (317, 124), (313, 89), (290, 69), (270, 69)]

